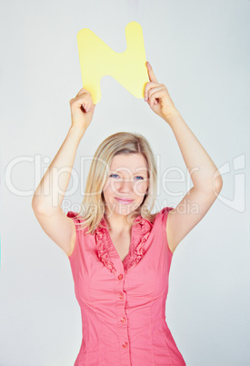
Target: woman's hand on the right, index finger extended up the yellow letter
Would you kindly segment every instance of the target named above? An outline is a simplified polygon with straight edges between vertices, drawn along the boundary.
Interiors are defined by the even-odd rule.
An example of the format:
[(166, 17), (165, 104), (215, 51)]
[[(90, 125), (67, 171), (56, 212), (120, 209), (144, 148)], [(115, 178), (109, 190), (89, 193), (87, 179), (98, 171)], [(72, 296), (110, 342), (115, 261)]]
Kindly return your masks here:
[(164, 118), (168, 122), (173, 114), (179, 114), (179, 112), (175, 108), (174, 102), (169, 96), (165, 85), (158, 83), (153, 68), (148, 61), (146, 62), (146, 66), (150, 82), (145, 84), (145, 101), (156, 115)]

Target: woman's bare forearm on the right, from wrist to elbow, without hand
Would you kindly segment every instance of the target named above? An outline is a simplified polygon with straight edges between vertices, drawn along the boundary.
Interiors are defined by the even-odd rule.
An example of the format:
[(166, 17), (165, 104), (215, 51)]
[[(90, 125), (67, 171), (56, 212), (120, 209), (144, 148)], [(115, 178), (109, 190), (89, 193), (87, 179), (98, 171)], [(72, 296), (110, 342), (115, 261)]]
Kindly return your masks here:
[(194, 188), (219, 193), (222, 188), (221, 175), (183, 117), (176, 112), (167, 118), (167, 123), (174, 132)]

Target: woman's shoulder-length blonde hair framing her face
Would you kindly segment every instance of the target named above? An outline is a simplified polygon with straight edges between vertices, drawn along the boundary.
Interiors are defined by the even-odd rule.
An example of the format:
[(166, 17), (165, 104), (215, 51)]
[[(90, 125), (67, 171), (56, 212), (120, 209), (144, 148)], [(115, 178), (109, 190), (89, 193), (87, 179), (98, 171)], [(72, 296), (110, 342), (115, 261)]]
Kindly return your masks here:
[[(153, 221), (155, 214), (151, 214), (154, 208), (157, 185), (157, 171), (153, 151), (146, 140), (140, 134), (130, 132), (118, 132), (106, 137), (97, 147), (86, 179), (85, 197), (80, 212), (76, 219), (84, 219), (80, 222), (80, 229), (89, 227), (87, 233), (94, 234), (105, 215), (105, 198), (103, 188), (108, 178), (112, 159), (118, 154), (142, 154), (145, 157), (148, 168), (148, 189), (141, 205), (127, 215), (127, 220), (132, 222), (133, 217), (139, 214), (143, 219)], [(81, 218), (80, 218), (81, 217)]]

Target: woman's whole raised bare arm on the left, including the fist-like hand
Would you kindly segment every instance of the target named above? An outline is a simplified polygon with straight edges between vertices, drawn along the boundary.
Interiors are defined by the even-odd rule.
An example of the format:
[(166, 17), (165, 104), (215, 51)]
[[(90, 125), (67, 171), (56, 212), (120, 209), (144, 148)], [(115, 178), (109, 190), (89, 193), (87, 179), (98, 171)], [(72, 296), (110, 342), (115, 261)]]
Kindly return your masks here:
[(75, 244), (75, 224), (61, 208), (75, 161), (77, 147), (90, 125), (95, 105), (90, 93), (81, 89), (70, 100), (72, 126), (35, 189), (32, 208), (45, 233), (69, 256)]

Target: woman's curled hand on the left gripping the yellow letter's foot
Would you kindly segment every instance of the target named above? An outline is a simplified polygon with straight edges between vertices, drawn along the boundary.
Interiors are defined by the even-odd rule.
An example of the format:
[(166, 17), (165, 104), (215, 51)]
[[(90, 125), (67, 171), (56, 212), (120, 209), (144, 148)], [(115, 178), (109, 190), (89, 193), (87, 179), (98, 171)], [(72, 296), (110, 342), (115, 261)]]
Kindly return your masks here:
[(69, 101), (71, 108), (72, 127), (85, 129), (89, 127), (92, 120), (95, 104), (91, 97), (91, 93), (82, 88), (75, 98)]

